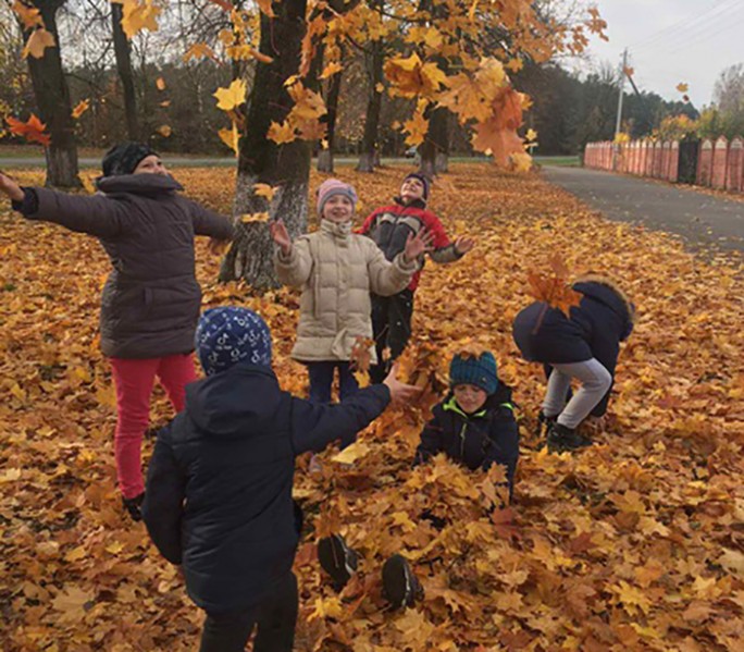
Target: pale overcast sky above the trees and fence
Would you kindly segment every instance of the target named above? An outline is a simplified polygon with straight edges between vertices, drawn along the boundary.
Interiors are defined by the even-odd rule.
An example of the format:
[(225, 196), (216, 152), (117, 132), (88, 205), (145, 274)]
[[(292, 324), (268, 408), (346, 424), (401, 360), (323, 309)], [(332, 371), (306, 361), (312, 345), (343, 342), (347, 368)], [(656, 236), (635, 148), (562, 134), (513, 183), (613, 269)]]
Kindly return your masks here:
[[(596, 0), (596, 5), (609, 42), (592, 39), (592, 64), (617, 67), (628, 47), (640, 90), (681, 99), (675, 87), (684, 82), (702, 109), (711, 102), (721, 71), (744, 62), (744, 0)], [(590, 64), (573, 67), (586, 71)]]

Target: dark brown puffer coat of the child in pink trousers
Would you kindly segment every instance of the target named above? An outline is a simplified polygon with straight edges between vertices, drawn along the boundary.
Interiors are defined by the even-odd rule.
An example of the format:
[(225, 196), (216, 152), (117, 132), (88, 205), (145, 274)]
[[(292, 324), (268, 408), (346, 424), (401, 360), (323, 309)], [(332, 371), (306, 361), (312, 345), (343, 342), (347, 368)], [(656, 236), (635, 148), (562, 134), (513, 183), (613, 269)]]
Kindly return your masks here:
[(194, 236), (233, 236), (226, 218), (177, 194), (170, 176), (127, 174), (98, 182), (83, 197), (24, 188), (26, 218), (97, 236), (113, 270), (101, 297), (101, 349), (117, 358), (156, 358), (194, 349), (201, 290)]

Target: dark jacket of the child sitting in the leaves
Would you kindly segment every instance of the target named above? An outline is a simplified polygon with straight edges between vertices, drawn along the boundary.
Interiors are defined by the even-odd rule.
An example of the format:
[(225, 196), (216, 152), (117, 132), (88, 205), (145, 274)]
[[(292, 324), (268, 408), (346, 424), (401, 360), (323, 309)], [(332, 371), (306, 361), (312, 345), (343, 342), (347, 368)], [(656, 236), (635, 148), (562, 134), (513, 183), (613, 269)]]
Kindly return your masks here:
[(511, 493), (519, 458), (519, 427), (511, 405), (511, 390), (499, 383), (483, 409), (472, 415), (462, 411), (450, 393), (432, 414), (434, 418), (421, 432), (416, 463), (446, 453), (447, 457), (461, 462), (471, 470), (500, 464), (506, 467)]

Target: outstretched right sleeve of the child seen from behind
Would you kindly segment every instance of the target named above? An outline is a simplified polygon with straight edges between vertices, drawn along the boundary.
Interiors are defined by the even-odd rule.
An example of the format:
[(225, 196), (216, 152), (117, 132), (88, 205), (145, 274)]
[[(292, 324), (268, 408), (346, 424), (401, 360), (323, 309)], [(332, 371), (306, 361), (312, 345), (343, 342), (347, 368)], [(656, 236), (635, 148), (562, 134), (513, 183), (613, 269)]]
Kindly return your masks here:
[(390, 402), (387, 385), (372, 385), (336, 405), (292, 399), (292, 445), (295, 455), (322, 451), (334, 440), (342, 447), (354, 443), (357, 433), (376, 419)]

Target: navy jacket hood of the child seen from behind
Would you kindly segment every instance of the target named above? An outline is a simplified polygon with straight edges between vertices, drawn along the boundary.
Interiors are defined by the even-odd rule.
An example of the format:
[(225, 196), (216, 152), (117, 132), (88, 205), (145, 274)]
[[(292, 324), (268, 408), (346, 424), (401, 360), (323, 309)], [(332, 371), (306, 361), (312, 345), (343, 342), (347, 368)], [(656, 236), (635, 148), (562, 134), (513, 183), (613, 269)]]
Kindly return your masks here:
[(202, 432), (243, 438), (276, 423), (282, 402), (270, 367), (239, 362), (186, 386), (186, 413)]

